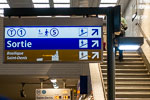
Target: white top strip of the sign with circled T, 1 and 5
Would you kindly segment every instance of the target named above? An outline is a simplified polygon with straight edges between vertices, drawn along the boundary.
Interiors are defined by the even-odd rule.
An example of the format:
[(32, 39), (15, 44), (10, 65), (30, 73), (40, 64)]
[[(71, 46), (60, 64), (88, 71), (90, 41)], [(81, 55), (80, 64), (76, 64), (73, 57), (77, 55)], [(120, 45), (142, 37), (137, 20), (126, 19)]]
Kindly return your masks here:
[(5, 38), (101, 38), (100, 26), (13, 26)]

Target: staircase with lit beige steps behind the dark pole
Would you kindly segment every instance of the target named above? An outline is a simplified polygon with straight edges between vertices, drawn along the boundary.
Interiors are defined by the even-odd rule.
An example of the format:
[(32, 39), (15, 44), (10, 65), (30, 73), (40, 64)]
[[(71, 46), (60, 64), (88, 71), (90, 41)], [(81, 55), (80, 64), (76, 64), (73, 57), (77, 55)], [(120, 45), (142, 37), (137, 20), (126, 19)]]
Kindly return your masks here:
[[(150, 75), (142, 57), (137, 52), (124, 52), (124, 61), (116, 57), (116, 99), (150, 100)], [(101, 64), (105, 89), (107, 91), (107, 61), (104, 52)]]

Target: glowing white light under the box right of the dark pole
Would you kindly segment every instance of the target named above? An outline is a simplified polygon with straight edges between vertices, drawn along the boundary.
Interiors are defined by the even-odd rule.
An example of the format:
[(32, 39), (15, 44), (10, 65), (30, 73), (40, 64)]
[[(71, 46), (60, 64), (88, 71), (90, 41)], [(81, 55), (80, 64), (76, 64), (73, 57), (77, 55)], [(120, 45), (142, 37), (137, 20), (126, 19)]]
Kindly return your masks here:
[(139, 45), (119, 45), (119, 50), (138, 50)]

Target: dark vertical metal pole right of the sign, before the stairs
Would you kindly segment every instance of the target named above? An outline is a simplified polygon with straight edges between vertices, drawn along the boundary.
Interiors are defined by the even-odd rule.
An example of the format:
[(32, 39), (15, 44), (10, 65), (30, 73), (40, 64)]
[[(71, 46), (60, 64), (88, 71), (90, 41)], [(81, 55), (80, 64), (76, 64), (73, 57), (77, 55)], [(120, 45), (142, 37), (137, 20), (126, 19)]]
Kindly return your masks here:
[(115, 100), (115, 49), (114, 49), (114, 27), (113, 8), (107, 12), (107, 98)]

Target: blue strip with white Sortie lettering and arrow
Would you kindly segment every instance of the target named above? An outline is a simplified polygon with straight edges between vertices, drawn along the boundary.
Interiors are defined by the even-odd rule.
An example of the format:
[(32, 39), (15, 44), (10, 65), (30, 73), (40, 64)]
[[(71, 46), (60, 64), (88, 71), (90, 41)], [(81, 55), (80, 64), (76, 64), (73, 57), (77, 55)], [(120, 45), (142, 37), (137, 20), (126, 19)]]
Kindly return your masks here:
[(101, 38), (5, 39), (5, 50), (101, 49)]

